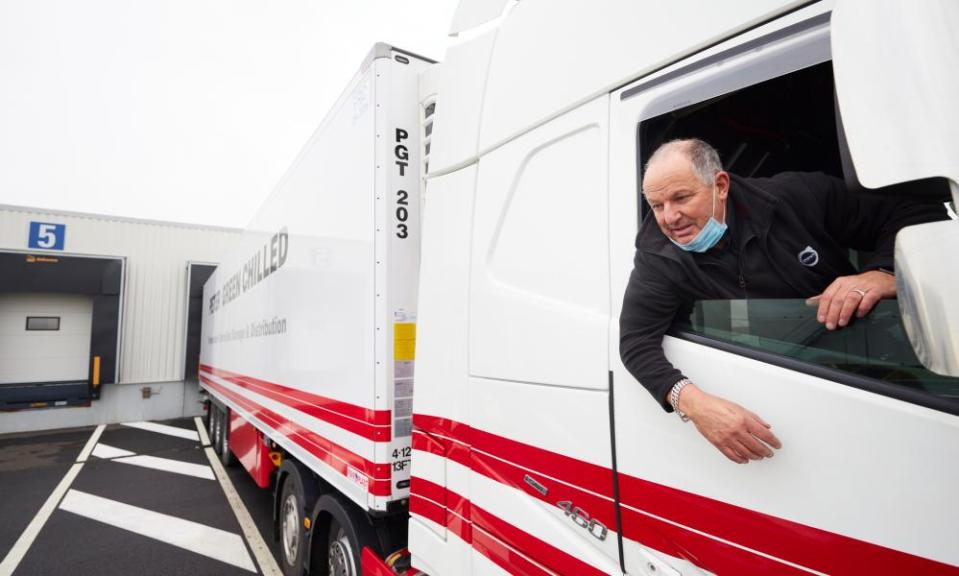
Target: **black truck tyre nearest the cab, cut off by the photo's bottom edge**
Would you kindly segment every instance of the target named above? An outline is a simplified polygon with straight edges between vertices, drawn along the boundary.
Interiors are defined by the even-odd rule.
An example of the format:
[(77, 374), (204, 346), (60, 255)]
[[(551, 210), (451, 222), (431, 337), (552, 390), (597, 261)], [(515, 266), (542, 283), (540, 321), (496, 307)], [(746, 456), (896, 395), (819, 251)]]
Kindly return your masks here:
[[(379, 554), (376, 534), (369, 519), (350, 502), (333, 494), (325, 494), (316, 503), (320, 515), (328, 515), (329, 532), (326, 550), (314, 548), (311, 574), (360, 576), (360, 555), (370, 547)], [(320, 545), (320, 543), (317, 543)]]

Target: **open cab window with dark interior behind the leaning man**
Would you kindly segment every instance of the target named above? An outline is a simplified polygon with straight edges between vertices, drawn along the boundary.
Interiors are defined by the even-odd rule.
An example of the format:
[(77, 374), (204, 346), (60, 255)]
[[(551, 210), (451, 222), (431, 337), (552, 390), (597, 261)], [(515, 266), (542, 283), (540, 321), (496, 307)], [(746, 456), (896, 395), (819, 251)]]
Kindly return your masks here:
[[(652, 151), (663, 142), (688, 137), (712, 144), (724, 168), (743, 177), (801, 171), (854, 181), (848, 158), (844, 162), (835, 102), (832, 63), (826, 61), (647, 118), (637, 132), (640, 181)], [(872, 192), (850, 186), (849, 193)], [(944, 199), (938, 194), (919, 196), (925, 201)], [(642, 221), (649, 210), (642, 195), (639, 204)], [(866, 255), (851, 250), (849, 257), (858, 267)], [(671, 333), (959, 413), (959, 378), (939, 376), (922, 366), (895, 301), (880, 302), (866, 318), (832, 332), (816, 321), (815, 311), (802, 299), (698, 301), (678, 314)]]

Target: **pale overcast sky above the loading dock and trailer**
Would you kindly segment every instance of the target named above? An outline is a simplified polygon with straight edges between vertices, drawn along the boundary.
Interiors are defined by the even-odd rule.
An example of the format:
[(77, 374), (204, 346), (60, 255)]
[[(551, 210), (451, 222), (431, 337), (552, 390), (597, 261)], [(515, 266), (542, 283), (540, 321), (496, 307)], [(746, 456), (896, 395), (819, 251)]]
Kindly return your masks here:
[(0, 0), (0, 204), (243, 226), (377, 41), (456, 0)]

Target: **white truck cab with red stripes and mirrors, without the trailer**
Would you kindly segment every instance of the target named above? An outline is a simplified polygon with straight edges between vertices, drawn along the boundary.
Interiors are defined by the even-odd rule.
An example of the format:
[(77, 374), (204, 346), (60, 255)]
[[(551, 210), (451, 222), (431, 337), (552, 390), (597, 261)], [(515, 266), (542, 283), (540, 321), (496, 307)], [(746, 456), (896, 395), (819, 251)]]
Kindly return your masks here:
[[(895, 302), (837, 338), (801, 301), (704, 302), (666, 338), (697, 384), (773, 424), (784, 448), (758, 466), (663, 412), (618, 355), (658, 142), (704, 137), (744, 175), (843, 176), (851, 153), (865, 187), (943, 177), (955, 195), (947, 4), (526, 1), (449, 50), (424, 196), (414, 566), (955, 573), (959, 388), (912, 356)], [(959, 223), (903, 235), (923, 228), (944, 242)], [(928, 242), (914, 257), (935, 259), (934, 282), (897, 262), (942, 306), (907, 309), (910, 334), (955, 361), (957, 269)]]

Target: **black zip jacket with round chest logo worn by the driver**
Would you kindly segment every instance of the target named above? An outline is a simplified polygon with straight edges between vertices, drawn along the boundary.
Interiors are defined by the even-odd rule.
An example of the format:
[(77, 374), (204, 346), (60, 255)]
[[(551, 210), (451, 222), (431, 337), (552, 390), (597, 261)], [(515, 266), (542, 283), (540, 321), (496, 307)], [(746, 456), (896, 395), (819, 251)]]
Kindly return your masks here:
[(872, 253), (862, 271), (892, 270), (900, 228), (946, 217), (941, 204), (851, 193), (820, 173), (731, 175), (729, 228), (713, 249), (685, 252), (651, 213), (643, 220), (619, 318), (623, 363), (671, 411), (666, 395), (683, 374), (663, 354), (663, 335), (693, 302), (815, 296), (858, 273), (849, 249)]

